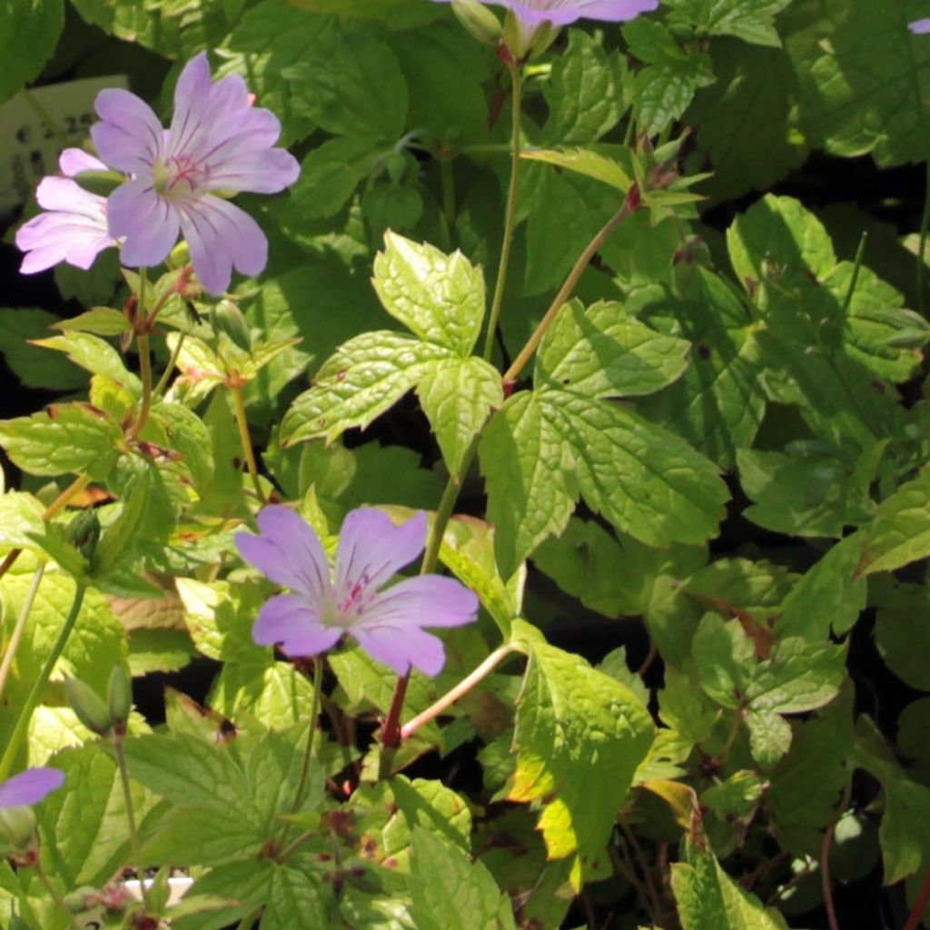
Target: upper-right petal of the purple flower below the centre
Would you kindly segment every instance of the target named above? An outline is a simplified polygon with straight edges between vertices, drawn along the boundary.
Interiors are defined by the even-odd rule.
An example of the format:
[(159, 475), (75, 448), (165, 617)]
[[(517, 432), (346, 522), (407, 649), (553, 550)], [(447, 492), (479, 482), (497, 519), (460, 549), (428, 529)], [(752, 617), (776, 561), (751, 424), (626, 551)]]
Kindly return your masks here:
[(426, 514), (400, 526), (384, 512), (360, 507), (343, 521), (336, 555), (336, 591), (344, 601), (359, 589), (377, 590), (426, 545)]

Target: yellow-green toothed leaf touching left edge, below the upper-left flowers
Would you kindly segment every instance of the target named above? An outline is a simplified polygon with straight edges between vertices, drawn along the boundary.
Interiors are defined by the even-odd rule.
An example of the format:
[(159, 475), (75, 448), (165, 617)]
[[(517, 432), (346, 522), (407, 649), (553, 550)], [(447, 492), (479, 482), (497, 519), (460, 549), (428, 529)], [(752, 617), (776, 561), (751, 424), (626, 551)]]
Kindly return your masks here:
[(119, 458), (123, 431), (90, 404), (53, 404), (32, 417), (0, 421), (0, 442), (24, 472), (82, 472), (102, 481)]

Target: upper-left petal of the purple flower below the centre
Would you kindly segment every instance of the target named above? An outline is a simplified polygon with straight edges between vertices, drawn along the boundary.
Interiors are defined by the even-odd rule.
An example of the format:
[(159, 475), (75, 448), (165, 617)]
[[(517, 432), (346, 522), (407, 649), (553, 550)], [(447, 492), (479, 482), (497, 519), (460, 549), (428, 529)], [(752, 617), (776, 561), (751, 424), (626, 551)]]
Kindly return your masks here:
[(319, 604), (332, 589), (326, 552), (306, 520), (286, 507), (265, 507), (259, 512), (261, 536), (237, 533), (235, 546), (249, 565), (275, 584)]

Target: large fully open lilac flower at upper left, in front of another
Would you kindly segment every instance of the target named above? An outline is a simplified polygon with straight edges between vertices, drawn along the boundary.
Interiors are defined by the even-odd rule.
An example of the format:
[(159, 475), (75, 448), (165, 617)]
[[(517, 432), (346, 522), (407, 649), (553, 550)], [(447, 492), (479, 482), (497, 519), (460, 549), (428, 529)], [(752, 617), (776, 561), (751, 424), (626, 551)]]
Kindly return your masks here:
[(211, 294), (229, 286), (233, 268), (258, 274), (268, 259), (259, 224), (218, 192), (277, 193), (298, 177), (293, 155), (272, 146), (281, 124), (250, 105), (238, 74), (216, 84), (206, 53), (190, 60), (175, 88), (164, 129), (147, 103), (127, 90), (101, 90), (100, 123), (90, 134), (100, 158), (132, 177), (107, 201), (110, 234), (125, 237), (126, 265), (157, 265), (181, 233), (193, 267)]

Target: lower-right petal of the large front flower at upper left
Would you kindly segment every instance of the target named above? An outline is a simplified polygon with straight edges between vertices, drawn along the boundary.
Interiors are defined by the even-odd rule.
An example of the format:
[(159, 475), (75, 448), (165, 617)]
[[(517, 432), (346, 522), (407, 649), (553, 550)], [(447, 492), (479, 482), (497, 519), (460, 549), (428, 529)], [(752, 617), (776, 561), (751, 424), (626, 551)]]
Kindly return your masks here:
[(229, 287), (233, 268), (249, 276), (264, 271), (268, 240), (245, 210), (211, 194), (177, 206), (193, 267), (210, 294), (222, 294)]

